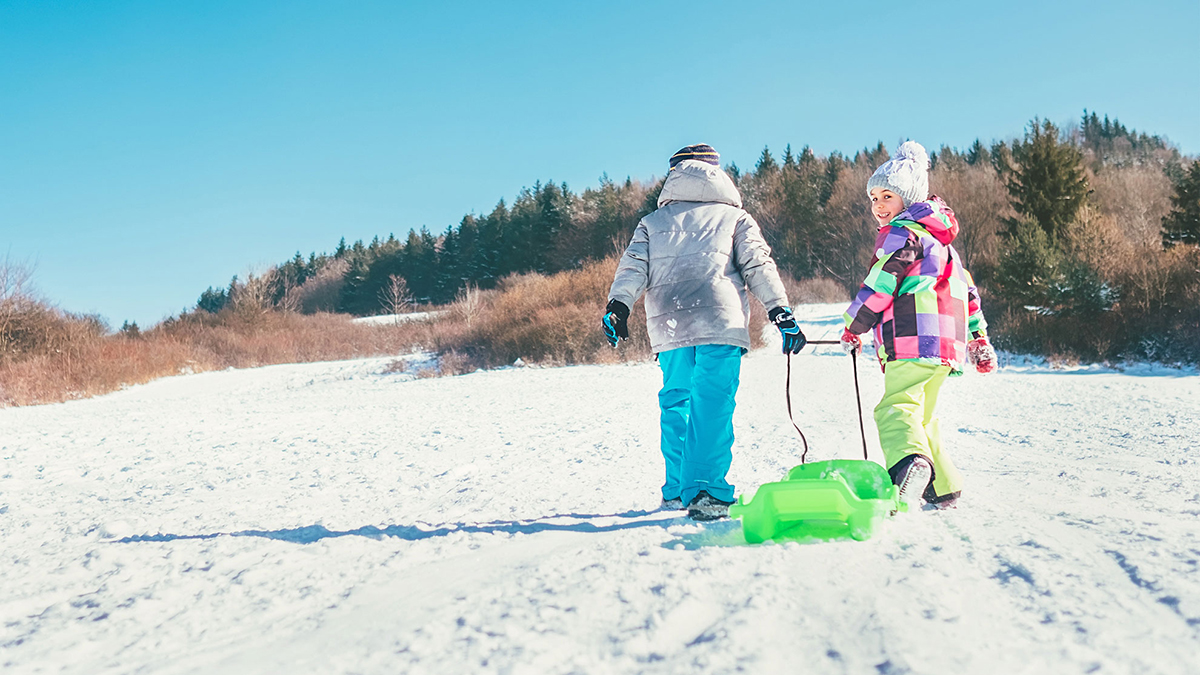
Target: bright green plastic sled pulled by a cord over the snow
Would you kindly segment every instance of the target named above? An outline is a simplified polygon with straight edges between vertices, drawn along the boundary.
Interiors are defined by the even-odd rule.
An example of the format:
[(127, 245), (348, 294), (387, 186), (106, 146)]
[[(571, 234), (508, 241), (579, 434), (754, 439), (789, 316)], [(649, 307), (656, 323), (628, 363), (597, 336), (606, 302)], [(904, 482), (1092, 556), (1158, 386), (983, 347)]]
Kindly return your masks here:
[(746, 542), (870, 539), (884, 518), (907, 510), (887, 470), (874, 461), (834, 459), (792, 467), (787, 479), (758, 488), (730, 507)]

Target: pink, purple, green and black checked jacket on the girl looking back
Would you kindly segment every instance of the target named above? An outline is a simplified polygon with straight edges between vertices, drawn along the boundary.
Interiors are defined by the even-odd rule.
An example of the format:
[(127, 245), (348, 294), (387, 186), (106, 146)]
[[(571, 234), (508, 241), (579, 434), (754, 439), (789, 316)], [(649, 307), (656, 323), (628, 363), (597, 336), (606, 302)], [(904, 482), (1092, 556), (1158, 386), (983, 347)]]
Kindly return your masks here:
[(954, 211), (937, 197), (880, 228), (871, 271), (844, 317), (851, 333), (875, 330), (880, 365), (918, 360), (958, 375), (967, 340), (986, 334), (974, 280), (950, 245), (958, 233)]

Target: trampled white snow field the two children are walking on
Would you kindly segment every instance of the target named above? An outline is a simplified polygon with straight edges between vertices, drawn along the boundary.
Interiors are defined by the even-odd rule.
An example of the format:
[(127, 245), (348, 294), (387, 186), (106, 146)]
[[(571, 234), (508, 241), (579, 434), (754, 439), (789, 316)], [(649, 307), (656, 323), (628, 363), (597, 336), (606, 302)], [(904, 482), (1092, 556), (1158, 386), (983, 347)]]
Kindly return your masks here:
[[(749, 546), (654, 510), (654, 363), (390, 360), (0, 410), (0, 671), (1200, 671), (1194, 371), (968, 374), (960, 508)], [(847, 357), (793, 369), (811, 456), (856, 456)], [(739, 489), (798, 462), (772, 350), (736, 425)]]

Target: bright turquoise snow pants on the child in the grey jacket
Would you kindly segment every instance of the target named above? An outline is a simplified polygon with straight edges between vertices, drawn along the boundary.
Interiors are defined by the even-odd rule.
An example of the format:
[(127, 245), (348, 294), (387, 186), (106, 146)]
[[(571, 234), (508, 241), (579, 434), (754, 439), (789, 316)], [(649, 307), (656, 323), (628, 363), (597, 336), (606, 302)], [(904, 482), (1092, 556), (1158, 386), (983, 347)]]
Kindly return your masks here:
[(733, 461), (733, 405), (742, 348), (700, 345), (659, 353), (659, 408), (666, 483), (662, 498), (690, 502), (701, 490), (733, 501), (725, 474)]

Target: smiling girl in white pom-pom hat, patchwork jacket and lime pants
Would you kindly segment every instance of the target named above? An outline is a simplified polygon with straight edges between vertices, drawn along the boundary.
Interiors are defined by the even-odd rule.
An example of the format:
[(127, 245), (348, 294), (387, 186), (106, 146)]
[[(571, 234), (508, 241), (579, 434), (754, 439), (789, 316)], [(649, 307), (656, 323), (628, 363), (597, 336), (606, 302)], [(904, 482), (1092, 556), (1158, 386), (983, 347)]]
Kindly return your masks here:
[(925, 149), (901, 144), (871, 175), (866, 193), (880, 234), (841, 342), (862, 348), (858, 335), (874, 330), (884, 387), (875, 424), (901, 501), (950, 506), (962, 477), (942, 447), (937, 394), (948, 376), (962, 374), (965, 360), (979, 372), (995, 370), (996, 352), (974, 281), (950, 244), (959, 233), (954, 211), (929, 195)]

